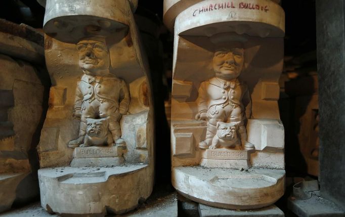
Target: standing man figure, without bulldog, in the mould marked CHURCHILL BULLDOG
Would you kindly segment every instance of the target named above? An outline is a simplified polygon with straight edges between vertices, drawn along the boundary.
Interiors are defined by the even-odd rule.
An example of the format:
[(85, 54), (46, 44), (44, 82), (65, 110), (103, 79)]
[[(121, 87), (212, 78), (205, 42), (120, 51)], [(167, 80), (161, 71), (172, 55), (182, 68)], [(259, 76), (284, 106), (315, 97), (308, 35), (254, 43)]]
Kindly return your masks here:
[(217, 49), (212, 62), (215, 77), (200, 84), (197, 99), (199, 112), (195, 118), (207, 121), (206, 139), (199, 143), (201, 149), (215, 148), (211, 143), (217, 133), (218, 122), (236, 124), (242, 147), (254, 148), (247, 142), (244, 125), (246, 115), (250, 117), (251, 100), (247, 86), (238, 80), (243, 68), (243, 54), (244, 50), (239, 46)]

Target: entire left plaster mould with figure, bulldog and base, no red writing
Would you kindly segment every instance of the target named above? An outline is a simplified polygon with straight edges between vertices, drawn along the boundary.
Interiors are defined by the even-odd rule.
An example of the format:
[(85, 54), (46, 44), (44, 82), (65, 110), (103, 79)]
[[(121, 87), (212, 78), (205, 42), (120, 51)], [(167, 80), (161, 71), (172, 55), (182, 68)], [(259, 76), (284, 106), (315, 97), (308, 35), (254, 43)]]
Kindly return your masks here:
[(52, 80), (41, 131), (41, 205), (61, 215), (123, 213), (152, 192), (151, 83), (136, 1), (49, 0)]

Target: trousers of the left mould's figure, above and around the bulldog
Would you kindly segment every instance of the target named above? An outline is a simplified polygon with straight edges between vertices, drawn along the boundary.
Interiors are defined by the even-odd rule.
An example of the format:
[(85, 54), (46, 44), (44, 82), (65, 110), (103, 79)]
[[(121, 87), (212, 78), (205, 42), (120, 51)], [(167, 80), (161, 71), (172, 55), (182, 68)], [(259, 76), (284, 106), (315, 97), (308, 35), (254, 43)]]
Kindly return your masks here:
[(121, 128), (119, 124), (121, 114), (118, 110), (117, 103), (107, 100), (99, 102), (96, 99), (83, 101), (81, 106), (79, 137), (86, 134), (87, 118), (107, 118), (109, 123), (108, 129), (111, 132), (114, 142), (121, 137)]

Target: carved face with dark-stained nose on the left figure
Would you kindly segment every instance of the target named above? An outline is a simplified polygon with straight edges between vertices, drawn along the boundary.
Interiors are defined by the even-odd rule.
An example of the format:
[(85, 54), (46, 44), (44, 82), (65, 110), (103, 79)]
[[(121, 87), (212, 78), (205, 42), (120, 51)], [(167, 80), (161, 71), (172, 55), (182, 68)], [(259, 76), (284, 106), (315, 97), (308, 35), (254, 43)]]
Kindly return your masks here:
[(102, 41), (81, 40), (77, 43), (80, 68), (94, 75), (97, 71), (108, 69), (110, 57), (107, 46)]

